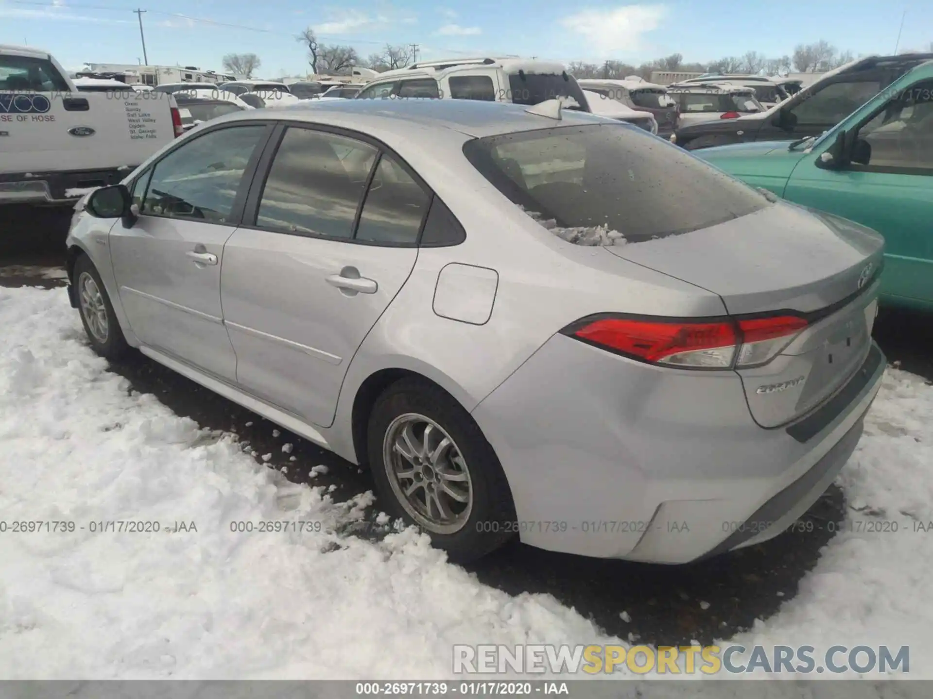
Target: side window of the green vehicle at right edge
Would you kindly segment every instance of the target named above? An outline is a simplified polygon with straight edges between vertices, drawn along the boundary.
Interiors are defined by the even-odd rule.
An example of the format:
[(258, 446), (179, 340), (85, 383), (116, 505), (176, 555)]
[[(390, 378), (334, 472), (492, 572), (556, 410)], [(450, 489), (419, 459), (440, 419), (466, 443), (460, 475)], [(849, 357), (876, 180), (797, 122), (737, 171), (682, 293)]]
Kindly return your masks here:
[(858, 137), (870, 147), (870, 168), (933, 172), (933, 81), (898, 91)]

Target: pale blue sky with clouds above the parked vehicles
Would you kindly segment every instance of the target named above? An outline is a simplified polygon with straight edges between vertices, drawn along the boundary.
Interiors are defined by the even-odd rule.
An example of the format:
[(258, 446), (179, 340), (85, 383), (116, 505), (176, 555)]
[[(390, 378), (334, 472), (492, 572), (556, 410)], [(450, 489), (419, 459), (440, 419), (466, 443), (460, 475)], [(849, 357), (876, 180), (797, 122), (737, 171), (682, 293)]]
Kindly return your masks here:
[(933, 42), (930, 0), (0, 0), (0, 43), (46, 48), (67, 68), (137, 62), (136, 7), (148, 10), (150, 63), (219, 70), (225, 54), (252, 52), (265, 77), (306, 70), (293, 38), (306, 26), (364, 57), (391, 42), (419, 44), (424, 59), (490, 52), (638, 63), (678, 52), (706, 62), (748, 50), (780, 56), (821, 38), (856, 55), (890, 53), (906, 10), (900, 48)]

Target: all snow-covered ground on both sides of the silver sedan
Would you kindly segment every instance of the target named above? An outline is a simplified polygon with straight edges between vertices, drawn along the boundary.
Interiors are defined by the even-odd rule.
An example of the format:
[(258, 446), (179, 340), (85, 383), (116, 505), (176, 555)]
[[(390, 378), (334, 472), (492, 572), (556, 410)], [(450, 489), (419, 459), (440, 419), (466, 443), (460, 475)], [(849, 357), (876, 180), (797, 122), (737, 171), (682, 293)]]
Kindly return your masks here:
[[(454, 643), (628, 645), (411, 531), (337, 533), (371, 497), (289, 483), (131, 391), (62, 289), (0, 288), (0, 327), (0, 520), (76, 524), (0, 534), (0, 678), (446, 678)], [(913, 524), (933, 520), (931, 472), (933, 387), (891, 369), (841, 476), (852, 530), (778, 613), (720, 642), (909, 645), (910, 676), (933, 678), (933, 531)], [(162, 530), (91, 532), (108, 520)], [(310, 529), (230, 531), (262, 520)], [(885, 520), (898, 532), (869, 530)]]

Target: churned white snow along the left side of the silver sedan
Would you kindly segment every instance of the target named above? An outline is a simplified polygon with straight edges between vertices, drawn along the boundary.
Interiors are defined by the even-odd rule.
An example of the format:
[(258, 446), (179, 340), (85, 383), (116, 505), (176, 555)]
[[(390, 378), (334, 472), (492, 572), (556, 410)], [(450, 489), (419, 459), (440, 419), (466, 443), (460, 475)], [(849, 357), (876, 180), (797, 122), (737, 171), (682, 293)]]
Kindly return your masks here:
[[(76, 523), (0, 534), (0, 678), (446, 678), (454, 643), (610, 642), (413, 529), (341, 536), (370, 494), (335, 504), (129, 391), (63, 289), (0, 288), (0, 323), (0, 520)], [(90, 530), (114, 520), (160, 531)]]

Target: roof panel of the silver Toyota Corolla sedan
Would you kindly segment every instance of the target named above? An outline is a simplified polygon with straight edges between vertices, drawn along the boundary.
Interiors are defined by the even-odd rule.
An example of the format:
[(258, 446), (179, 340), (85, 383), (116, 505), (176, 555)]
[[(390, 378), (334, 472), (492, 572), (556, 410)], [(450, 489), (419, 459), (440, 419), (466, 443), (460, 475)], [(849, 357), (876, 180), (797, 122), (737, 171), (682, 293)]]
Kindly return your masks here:
[[(538, 105), (540, 106), (540, 105)], [(394, 131), (401, 135), (433, 131), (456, 131), (481, 138), (500, 133), (514, 133), (560, 126), (606, 123), (587, 112), (563, 109), (560, 119), (530, 114), (522, 104), (483, 102), (480, 100), (306, 100), (269, 113), (243, 113), (225, 119), (290, 119), (343, 127), (364, 133), (370, 130)]]

